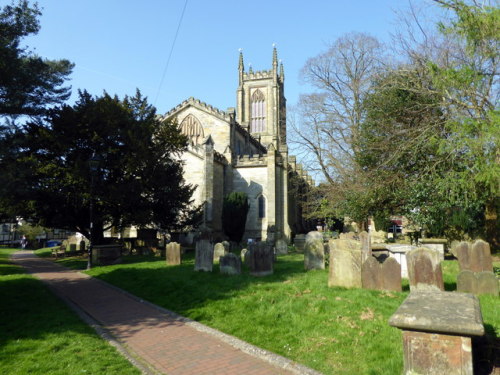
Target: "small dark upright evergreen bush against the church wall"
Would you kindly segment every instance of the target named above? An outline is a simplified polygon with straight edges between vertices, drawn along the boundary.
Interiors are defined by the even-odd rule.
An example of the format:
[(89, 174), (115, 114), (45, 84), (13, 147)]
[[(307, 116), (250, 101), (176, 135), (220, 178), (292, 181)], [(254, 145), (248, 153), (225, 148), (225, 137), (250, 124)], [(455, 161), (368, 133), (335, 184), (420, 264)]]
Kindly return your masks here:
[(241, 242), (245, 233), (247, 214), (250, 206), (243, 192), (232, 192), (222, 203), (222, 229), (231, 241)]

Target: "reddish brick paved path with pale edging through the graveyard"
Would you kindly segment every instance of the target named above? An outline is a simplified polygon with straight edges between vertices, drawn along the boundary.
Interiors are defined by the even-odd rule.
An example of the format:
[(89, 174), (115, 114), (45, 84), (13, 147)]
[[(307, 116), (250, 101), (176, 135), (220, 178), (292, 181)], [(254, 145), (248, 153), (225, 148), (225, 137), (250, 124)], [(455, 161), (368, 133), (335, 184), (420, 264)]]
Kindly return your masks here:
[(13, 260), (97, 321), (152, 373), (319, 374), (31, 252), (16, 252)]

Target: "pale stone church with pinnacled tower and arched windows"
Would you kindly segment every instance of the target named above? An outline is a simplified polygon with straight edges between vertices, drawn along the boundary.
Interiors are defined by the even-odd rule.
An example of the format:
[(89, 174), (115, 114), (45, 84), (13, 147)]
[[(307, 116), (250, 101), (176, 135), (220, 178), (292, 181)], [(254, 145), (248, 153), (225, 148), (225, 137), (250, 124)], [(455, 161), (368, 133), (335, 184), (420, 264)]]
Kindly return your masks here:
[(204, 205), (202, 228), (223, 238), (223, 198), (239, 191), (250, 205), (244, 240), (289, 241), (304, 231), (296, 193), (313, 182), (288, 154), (285, 75), (276, 48), (271, 69), (264, 71), (246, 72), (240, 52), (238, 75), (236, 108), (222, 111), (189, 98), (163, 119), (175, 121), (189, 137), (184, 179), (197, 186), (195, 204)]

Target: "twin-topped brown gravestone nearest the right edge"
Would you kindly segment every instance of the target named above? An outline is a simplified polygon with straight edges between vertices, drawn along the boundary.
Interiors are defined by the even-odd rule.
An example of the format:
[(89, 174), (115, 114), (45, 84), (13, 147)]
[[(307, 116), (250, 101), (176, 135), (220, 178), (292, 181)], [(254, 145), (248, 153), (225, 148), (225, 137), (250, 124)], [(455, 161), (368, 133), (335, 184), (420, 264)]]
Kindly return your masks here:
[(458, 264), (461, 271), (493, 272), (490, 245), (482, 240), (474, 242), (460, 242), (456, 247)]

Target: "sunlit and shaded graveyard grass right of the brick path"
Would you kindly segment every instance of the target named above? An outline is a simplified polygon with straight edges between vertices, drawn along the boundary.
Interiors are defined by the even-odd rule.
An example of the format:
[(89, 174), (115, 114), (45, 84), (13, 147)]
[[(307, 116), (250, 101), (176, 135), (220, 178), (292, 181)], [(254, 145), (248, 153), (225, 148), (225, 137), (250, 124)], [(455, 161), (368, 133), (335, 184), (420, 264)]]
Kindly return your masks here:
[[(132, 256), (87, 273), (324, 374), (401, 373), (401, 333), (387, 321), (408, 294), (407, 280), (403, 293), (328, 288), (328, 270), (305, 272), (303, 259), (280, 256), (274, 275), (262, 278), (245, 267), (242, 275), (221, 275), (218, 264), (194, 272), (192, 252), (180, 266)], [(455, 290), (457, 262), (443, 268), (447, 290)], [(482, 296), (481, 306), (487, 330), (500, 336), (498, 299)]]

